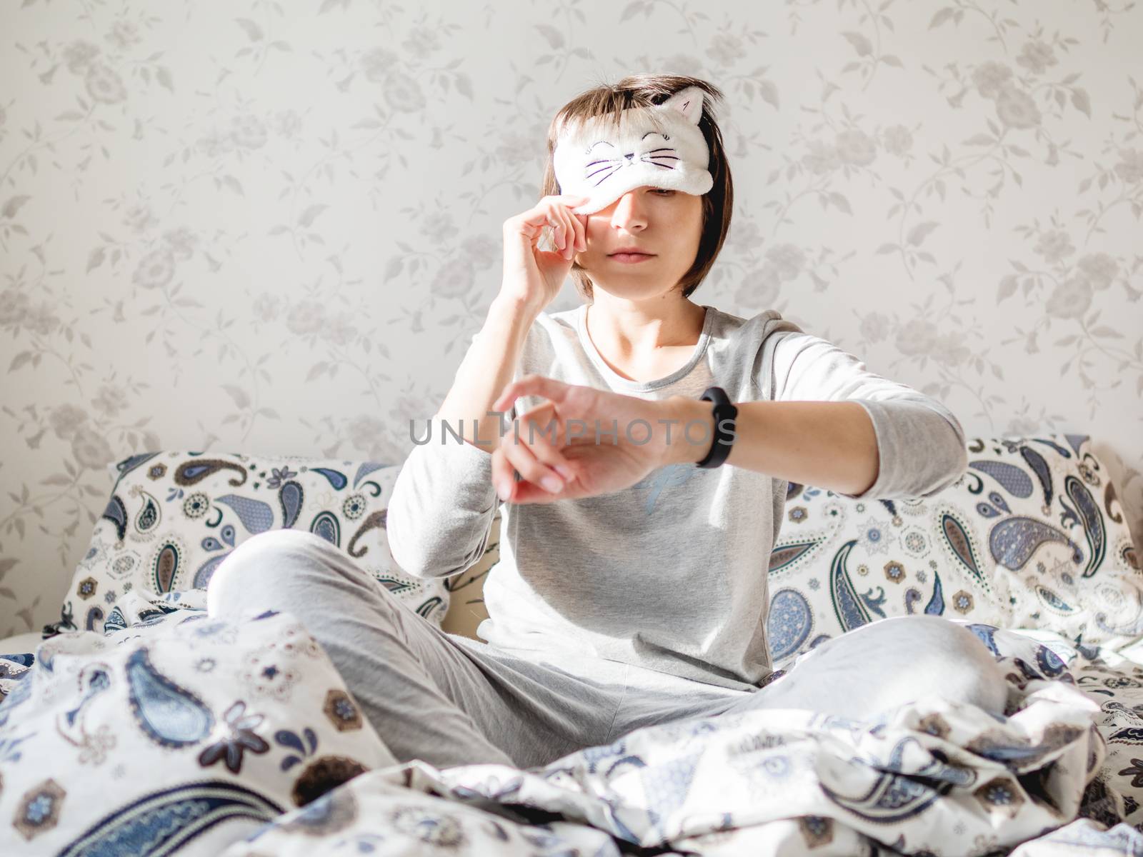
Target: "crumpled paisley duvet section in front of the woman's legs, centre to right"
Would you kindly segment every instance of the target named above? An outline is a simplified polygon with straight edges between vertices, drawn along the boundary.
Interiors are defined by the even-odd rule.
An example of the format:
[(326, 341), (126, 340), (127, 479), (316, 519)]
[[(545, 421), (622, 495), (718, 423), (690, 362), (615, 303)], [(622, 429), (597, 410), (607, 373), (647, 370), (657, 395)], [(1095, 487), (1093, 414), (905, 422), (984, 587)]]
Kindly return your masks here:
[(1077, 818), (1105, 754), (1100, 706), (1045, 647), (970, 627), (1008, 649), (1010, 716), (932, 696), (871, 721), (799, 710), (677, 721), (531, 770), (414, 760), (285, 814), (225, 857), (1007, 854)]

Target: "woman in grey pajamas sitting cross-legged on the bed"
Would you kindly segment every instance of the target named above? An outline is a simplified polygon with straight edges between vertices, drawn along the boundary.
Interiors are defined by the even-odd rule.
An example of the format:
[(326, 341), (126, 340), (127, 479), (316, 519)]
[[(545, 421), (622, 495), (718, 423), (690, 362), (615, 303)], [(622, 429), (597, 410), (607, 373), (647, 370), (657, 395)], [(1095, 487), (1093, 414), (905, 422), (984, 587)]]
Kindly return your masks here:
[[(301, 616), (401, 761), (535, 767), (682, 718), (866, 718), (928, 692), (1004, 712), (991, 654), (940, 617), (866, 625), (772, 668), (767, 570), (788, 480), (929, 496), (964, 472), (965, 436), (938, 402), (772, 310), (689, 299), (733, 205), (720, 96), (673, 75), (581, 95), (552, 122), (543, 198), (504, 223), (501, 291), (387, 514), (400, 567), (448, 577), (483, 553), (501, 491), (481, 640), (401, 609), (310, 534), (255, 536), (210, 582), (211, 615)], [(617, 255), (630, 248), (642, 257)], [(545, 313), (569, 272), (589, 303)], [(737, 403), (721, 466), (705, 466), (727, 449), (698, 399), (712, 386)], [(497, 411), (517, 400), (530, 407), (503, 433)]]

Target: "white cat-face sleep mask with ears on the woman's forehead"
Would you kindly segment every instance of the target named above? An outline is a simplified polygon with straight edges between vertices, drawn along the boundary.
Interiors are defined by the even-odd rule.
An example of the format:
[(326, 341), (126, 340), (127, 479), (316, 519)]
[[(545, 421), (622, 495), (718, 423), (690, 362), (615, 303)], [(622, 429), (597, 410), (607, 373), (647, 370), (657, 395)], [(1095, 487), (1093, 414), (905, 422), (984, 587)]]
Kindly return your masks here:
[(714, 179), (708, 169), (710, 151), (698, 128), (703, 114), (700, 87), (681, 89), (662, 104), (620, 113), (618, 127), (610, 117), (592, 117), (560, 129), (552, 152), (552, 168), (560, 193), (588, 197), (569, 209), (592, 214), (607, 208), (628, 191), (644, 185), (697, 197)]

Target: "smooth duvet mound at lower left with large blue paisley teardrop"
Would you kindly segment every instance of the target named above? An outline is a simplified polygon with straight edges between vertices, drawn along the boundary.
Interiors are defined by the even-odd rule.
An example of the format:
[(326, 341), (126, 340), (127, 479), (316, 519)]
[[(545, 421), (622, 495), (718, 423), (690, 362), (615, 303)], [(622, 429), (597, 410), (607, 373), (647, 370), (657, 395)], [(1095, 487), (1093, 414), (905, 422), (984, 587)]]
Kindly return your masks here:
[(397, 764), (287, 612), (181, 609), (22, 659), (0, 676), (6, 855), (217, 855)]

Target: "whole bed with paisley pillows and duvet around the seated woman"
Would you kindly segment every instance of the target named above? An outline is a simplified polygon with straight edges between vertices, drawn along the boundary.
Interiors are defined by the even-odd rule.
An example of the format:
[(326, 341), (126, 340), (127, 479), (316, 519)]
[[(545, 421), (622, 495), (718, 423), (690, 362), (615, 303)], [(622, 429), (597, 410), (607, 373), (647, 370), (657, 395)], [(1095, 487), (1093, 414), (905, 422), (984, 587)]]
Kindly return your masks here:
[[(473, 635), (485, 556), (405, 575), (398, 465), (130, 456), (43, 632), (0, 641), (0, 852), (1143, 854), (1143, 588), (1086, 435), (969, 441), (924, 499), (790, 483), (769, 562), (775, 667), (911, 612), (1002, 664), (1002, 718), (940, 696), (857, 721), (756, 711), (636, 730), (535, 769), (397, 763), (289, 614), (207, 616), (241, 540), (304, 528)], [(46, 638), (46, 639), (45, 639)]]

